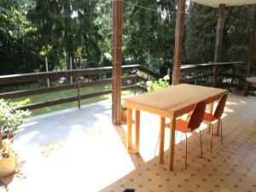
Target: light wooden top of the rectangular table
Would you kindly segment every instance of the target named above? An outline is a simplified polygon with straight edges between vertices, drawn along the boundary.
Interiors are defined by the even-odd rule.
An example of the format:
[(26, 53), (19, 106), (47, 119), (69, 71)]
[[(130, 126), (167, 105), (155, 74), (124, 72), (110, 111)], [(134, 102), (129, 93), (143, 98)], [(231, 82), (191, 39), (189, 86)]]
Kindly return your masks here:
[(177, 84), (163, 90), (155, 90), (125, 98), (127, 108), (157, 113), (161, 116), (179, 116), (193, 110), (197, 102), (213, 102), (227, 90), (194, 84)]

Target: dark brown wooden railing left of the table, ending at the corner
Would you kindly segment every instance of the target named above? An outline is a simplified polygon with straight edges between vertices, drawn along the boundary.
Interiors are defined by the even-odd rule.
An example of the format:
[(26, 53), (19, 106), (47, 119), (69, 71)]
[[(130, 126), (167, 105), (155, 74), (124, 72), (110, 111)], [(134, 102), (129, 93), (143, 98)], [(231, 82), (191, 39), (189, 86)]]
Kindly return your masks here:
[[(125, 86), (122, 87), (122, 90), (134, 90), (135, 93), (137, 89), (145, 90), (143, 86), (137, 85), (139, 81), (147, 81), (149, 77), (160, 78), (160, 75), (148, 70), (145, 67), (140, 65), (129, 65), (122, 67), (123, 72), (128, 72), (128, 75), (122, 77), (122, 81)], [(145, 73), (146, 78), (137, 76), (137, 72), (140, 71)], [(62, 104), (66, 102), (78, 102), (78, 106), (80, 108), (80, 101), (83, 99), (95, 97), (95, 96), (103, 96), (108, 95), (112, 92), (111, 89), (96, 91), (90, 94), (80, 95), (80, 89), (84, 87), (91, 87), (96, 85), (108, 85), (112, 83), (111, 78), (104, 79), (96, 79), (91, 80), (90, 76), (104, 74), (105, 76), (111, 76), (112, 67), (97, 67), (97, 68), (87, 68), (87, 69), (77, 69), (77, 70), (67, 70), (67, 71), (59, 71), (59, 72), (49, 72), (49, 73), (25, 73), (25, 74), (15, 74), (15, 75), (5, 75), (0, 76), (0, 88), (6, 86), (11, 86), (13, 84), (24, 84), (24, 83), (32, 83), (38, 81), (44, 81), (46, 79), (59, 81), (58, 79), (70, 79), (73, 77), (73, 84), (57, 84), (51, 87), (40, 87), (36, 89), (25, 89), (25, 90), (12, 90), (12, 91), (4, 91), (0, 93), (0, 98), (3, 99), (11, 99), (23, 96), (33, 96), (38, 94), (50, 93), (61, 90), (77, 90), (77, 96), (70, 96), (66, 98), (59, 98), (53, 101), (47, 102), (39, 102), (32, 103), (26, 106), (21, 107), (21, 109), (37, 109), (49, 107), (57, 104)], [(86, 79), (86, 81), (84, 80)], [(90, 79), (90, 80), (88, 80)]]

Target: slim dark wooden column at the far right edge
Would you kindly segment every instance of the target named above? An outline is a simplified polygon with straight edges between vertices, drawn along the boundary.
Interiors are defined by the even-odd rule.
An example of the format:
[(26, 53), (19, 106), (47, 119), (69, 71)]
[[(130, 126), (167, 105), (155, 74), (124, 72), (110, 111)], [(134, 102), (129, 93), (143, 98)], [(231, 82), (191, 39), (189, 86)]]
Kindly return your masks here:
[[(251, 68), (253, 66), (253, 56), (254, 56), (254, 50), (255, 50), (255, 35), (256, 35), (256, 8), (254, 11), (254, 19), (253, 19), (253, 32), (252, 32), (252, 37), (251, 37), (251, 43), (250, 43), (250, 53), (249, 53), (249, 58), (248, 58), (248, 63), (247, 63), (247, 74), (246, 76), (249, 77), (251, 73)], [(244, 95), (247, 96), (247, 91), (249, 88), (249, 83), (246, 83), (245, 90), (244, 90)]]

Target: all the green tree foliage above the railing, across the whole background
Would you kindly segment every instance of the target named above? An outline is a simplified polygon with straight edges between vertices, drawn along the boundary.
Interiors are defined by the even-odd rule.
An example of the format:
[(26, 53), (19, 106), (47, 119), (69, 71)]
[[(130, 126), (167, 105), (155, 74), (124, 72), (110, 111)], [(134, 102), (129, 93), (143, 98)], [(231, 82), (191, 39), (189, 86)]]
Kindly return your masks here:
[[(188, 3), (183, 64), (213, 60), (218, 9)], [(112, 1), (1, 0), (0, 74), (111, 65)], [(253, 6), (225, 12), (221, 61), (247, 61)], [(124, 1), (123, 63), (172, 67), (177, 0)]]

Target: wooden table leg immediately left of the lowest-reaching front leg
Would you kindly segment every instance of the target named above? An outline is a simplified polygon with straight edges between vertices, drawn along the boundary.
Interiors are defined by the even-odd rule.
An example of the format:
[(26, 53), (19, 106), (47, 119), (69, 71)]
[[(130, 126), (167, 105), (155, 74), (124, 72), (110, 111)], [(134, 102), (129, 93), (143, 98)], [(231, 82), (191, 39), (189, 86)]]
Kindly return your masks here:
[(166, 118), (160, 117), (160, 143), (159, 143), (159, 162), (160, 162), (160, 164), (164, 163), (165, 125), (166, 125)]

